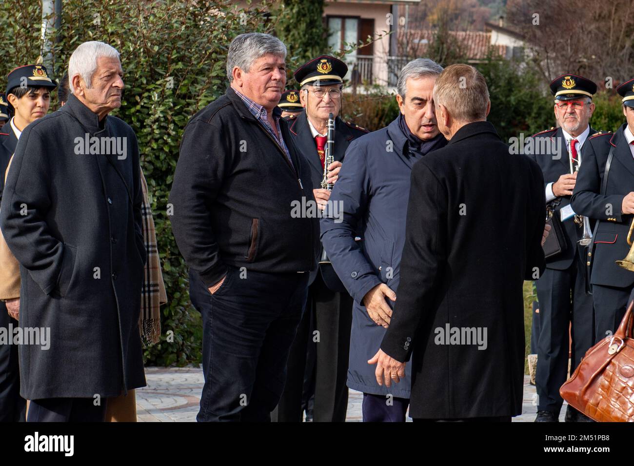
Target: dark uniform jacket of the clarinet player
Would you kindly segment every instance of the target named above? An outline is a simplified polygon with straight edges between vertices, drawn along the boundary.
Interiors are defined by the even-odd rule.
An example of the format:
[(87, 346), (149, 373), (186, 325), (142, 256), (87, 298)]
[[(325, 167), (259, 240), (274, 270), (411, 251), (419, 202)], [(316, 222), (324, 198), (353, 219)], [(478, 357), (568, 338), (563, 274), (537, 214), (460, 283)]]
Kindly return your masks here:
[[(321, 180), (323, 179), (323, 168), (321, 168), (321, 162), (319, 154), (317, 153), (317, 144), (313, 138), (313, 133), (308, 126), (308, 119), (306, 117), (306, 110), (299, 113), (290, 125), (290, 134), (293, 139), (297, 150), (302, 154), (304, 159), (307, 160), (310, 166), (310, 176), (313, 181), (313, 188), (321, 188)], [(350, 122), (344, 122), (340, 117), (335, 118), (335, 143), (333, 147), (335, 162), (343, 162), (344, 155), (350, 143), (367, 134), (368, 131), (359, 126), (356, 126)], [(315, 277), (319, 273), (319, 268), (315, 269), (310, 276), (309, 283), (313, 283)]]

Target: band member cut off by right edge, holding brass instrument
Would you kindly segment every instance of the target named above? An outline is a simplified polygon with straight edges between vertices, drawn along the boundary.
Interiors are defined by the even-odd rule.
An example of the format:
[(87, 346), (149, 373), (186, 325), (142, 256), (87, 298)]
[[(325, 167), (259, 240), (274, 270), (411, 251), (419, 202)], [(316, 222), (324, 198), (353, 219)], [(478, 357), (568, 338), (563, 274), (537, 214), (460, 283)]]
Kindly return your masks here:
[(634, 273), (615, 263), (630, 251), (627, 237), (634, 214), (634, 79), (621, 84), (616, 92), (623, 98), (627, 121), (615, 133), (588, 139), (573, 194), (573, 209), (598, 219), (594, 250), (587, 257), (592, 264), (597, 342), (616, 332), (634, 284)]

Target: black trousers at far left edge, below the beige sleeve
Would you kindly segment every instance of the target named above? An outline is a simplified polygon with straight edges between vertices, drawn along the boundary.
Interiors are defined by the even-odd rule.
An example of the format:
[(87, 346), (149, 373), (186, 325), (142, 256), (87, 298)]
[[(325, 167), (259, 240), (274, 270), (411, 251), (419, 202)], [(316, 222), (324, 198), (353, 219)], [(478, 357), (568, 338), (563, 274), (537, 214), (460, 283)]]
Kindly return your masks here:
[[(9, 324), (18, 327), (18, 321), (6, 311), (0, 301), (0, 327), (8, 331)], [(24, 422), (27, 401), (20, 396), (20, 368), (18, 346), (0, 345), (0, 422)]]

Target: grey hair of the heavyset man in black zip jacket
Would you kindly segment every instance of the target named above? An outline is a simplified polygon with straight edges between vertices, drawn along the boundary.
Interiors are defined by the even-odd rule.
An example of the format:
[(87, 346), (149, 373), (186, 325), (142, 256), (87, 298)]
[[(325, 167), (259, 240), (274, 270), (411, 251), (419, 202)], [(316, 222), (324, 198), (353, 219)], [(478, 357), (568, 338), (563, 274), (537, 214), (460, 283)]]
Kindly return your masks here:
[(248, 73), (254, 61), (264, 55), (281, 55), (286, 58), (286, 46), (271, 34), (248, 32), (236, 36), (227, 53), (227, 77), (233, 81), (233, 68), (238, 67)]

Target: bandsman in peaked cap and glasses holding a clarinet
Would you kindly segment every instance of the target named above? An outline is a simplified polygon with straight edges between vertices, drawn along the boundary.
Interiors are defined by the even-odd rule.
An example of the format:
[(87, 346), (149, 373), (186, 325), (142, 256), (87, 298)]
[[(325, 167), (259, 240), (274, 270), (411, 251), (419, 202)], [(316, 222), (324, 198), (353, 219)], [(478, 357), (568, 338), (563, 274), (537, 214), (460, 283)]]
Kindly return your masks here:
[[(301, 86), (299, 101), (304, 111), (290, 124), (290, 134), (295, 146), (311, 167), (314, 186), (320, 186), (323, 179), (329, 113), (335, 115), (335, 162), (328, 167), (332, 183), (337, 180), (348, 145), (368, 133), (339, 116), (343, 80), (347, 71), (346, 63), (328, 55), (318, 56), (295, 71), (295, 79)], [(287, 100), (290, 100), (291, 95), (289, 94)], [(314, 195), (323, 209), (330, 191), (318, 188), (314, 190)], [(287, 384), (277, 408), (278, 422), (302, 420), (306, 352), (307, 346), (312, 344), (316, 347), (313, 420), (346, 420), (346, 377), (353, 299), (343, 286), (340, 289), (342, 291), (328, 288), (319, 268), (311, 273), (306, 309), (288, 358)], [(319, 336), (318, 342), (314, 341), (314, 335)], [(273, 416), (275, 418), (275, 413)]]

